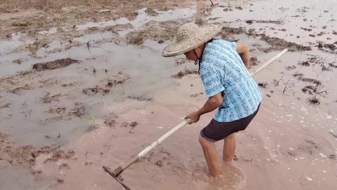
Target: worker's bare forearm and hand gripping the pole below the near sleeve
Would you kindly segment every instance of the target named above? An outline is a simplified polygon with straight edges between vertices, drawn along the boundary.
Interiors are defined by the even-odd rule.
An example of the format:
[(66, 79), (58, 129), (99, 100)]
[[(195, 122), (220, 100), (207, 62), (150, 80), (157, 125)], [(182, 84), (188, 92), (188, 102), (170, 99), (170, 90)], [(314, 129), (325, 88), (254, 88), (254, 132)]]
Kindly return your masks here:
[(209, 97), (200, 110), (187, 115), (185, 119), (190, 119), (189, 124), (196, 123), (199, 121), (202, 114), (212, 112), (213, 110), (219, 108), (219, 106), (222, 105), (222, 102), (223, 98), (221, 96), (221, 92), (219, 92), (216, 95)]

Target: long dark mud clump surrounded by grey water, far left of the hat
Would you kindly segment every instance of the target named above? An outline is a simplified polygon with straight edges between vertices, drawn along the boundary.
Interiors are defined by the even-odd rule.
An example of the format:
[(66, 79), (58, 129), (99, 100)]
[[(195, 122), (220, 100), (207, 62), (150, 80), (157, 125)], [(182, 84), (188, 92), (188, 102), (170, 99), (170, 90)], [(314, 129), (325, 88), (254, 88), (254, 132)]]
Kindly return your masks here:
[(73, 63), (79, 63), (79, 61), (70, 58), (57, 59), (46, 63), (35, 63), (33, 65), (33, 69), (35, 71), (54, 70), (62, 67), (67, 67)]

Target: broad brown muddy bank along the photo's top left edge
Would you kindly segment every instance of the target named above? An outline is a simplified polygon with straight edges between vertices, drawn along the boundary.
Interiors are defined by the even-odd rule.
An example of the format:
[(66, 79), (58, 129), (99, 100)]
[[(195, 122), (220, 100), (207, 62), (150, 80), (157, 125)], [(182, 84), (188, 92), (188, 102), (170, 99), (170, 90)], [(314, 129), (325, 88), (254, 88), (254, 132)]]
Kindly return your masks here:
[[(155, 5), (156, 4), (156, 5)], [(4, 15), (15, 15), (11, 17), (3, 17), (1, 19), (0, 31), (3, 35), (13, 32), (29, 31), (28, 34), (47, 30), (53, 27), (65, 30), (75, 28), (76, 25), (85, 22), (99, 22), (103, 20), (115, 20), (122, 17), (130, 20), (135, 19), (138, 15), (137, 10), (151, 5), (152, 7), (161, 7), (169, 10), (179, 4), (181, 1), (144, 1), (137, 0), (133, 2), (120, 2), (112, 0), (109, 2), (96, 1), (92, 3), (90, 0), (85, 1), (51, 1), (46, 0), (43, 3), (39, 0), (33, 0), (30, 3), (20, 2), (17, 0), (5, 0), (0, 5), (0, 13)], [(28, 13), (30, 9), (34, 11)], [(102, 9), (108, 9), (107, 12), (99, 12)], [(147, 11), (154, 15), (154, 11)], [(72, 15), (76, 15), (73, 17)], [(11, 22), (7, 22), (9, 18)], [(55, 19), (58, 18), (58, 19)], [(71, 23), (71, 24), (67, 24)], [(64, 28), (64, 29), (62, 29)]]

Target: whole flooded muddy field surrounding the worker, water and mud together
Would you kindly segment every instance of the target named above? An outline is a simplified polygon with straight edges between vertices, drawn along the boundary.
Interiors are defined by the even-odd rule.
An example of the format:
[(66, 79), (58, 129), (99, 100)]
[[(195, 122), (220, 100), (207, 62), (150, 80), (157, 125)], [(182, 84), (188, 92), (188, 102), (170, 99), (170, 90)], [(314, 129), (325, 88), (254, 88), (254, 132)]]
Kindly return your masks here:
[(336, 190), (337, 2), (212, 1), (0, 2), (0, 189), (123, 190), (102, 166), (123, 165), (207, 100), (198, 66), (161, 56), (197, 20), (246, 43), (250, 72), (290, 51), (254, 76), (260, 112), (237, 134), (222, 178), (207, 176), (198, 142), (214, 112), (127, 169), (124, 183)]

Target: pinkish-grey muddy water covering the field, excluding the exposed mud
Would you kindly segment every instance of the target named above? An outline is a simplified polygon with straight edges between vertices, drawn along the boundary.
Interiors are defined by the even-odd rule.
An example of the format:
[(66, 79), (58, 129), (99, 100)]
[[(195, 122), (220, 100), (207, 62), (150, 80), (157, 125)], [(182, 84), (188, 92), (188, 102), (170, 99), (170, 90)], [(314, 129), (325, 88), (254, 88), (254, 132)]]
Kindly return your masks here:
[[(336, 21), (333, 20), (336, 2), (230, 1), (230, 6), (228, 2), (220, 1), (220, 6), (212, 8), (209, 15), (202, 15), (202, 19), (206, 22), (222, 22), (227, 27), (246, 27), (247, 31), (255, 29), (256, 33), (298, 44), (315, 43), (310, 45), (312, 51), (288, 52), (272, 66), (254, 76), (256, 82), (268, 83), (266, 88), (261, 88), (264, 101), (259, 114), (247, 130), (237, 134), (238, 159), (233, 165), (222, 166), (223, 177), (220, 180), (211, 180), (206, 175), (207, 167), (197, 140), (199, 131), (214, 115), (210, 113), (203, 115), (198, 123), (181, 129), (126, 170), (122, 175), (124, 182), (133, 190), (152, 190), (158, 187), (164, 190), (337, 189), (334, 183), (337, 180), (337, 162), (329, 158), (329, 155), (337, 154), (337, 139), (333, 135), (337, 134), (337, 90), (334, 85), (337, 78), (333, 67), (329, 71), (321, 72), (322, 64), (326, 67), (330, 63), (337, 65), (336, 50), (334, 54), (314, 46), (318, 45), (316, 41), (337, 41), (336, 35), (332, 34), (336, 30)], [(204, 2), (205, 6), (208, 4), (208, 1)], [(241, 6), (243, 10), (236, 8), (237, 6)], [(303, 6), (308, 8), (301, 8)], [(150, 20), (189, 18), (194, 16), (195, 8), (196, 5), (193, 4), (189, 9), (158, 11), (157, 17), (147, 16), (144, 9), (141, 9), (134, 21), (123, 18), (118, 21), (88, 23), (77, 26), (77, 29), (130, 22), (134, 29), (120, 32), (127, 34), (141, 28)], [(224, 8), (233, 11), (226, 12), (223, 11)], [(219, 18), (208, 20), (216, 17)], [(303, 21), (305, 18), (307, 20)], [(283, 23), (256, 22), (269, 19)], [(253, 20), (253, 24), (246, 23), (246, 20)], [(327, 26), (326, 29), (323, 29), (324, 26)], [(301, 27), (312, 31), (304, 31)], [(325, 34), (309, 36), (321, 31)], [(52, 29), (43, 32), (43, 35), (53, 35), (54, 32), (57, 31)], [(43, 163), (50, 155), (40, 156), (32, 168), (42, 170), (42, 178), (39, 180), (34, 180), (32, 176), (27, 177), (30, 175), (28, 168), (8, 166), (0, 170), (1, 188), (122, 190), (101, 166), (114, 169), (124, 164), (206, 101), (205, 96), (200, 94), (204, 90), (199, 76), (184, 76), (182, 79), (170, 77), (186, 68), (196, 69), (196, 66), (192, 62), (185, 62), (182, 56), (161, 57), (161, 50), (169, 41), (158, 44), (157, 41), (146, 40), (143, 46), (137, 47), (123, 41), (119, 44), (96, 42), (113, 38), (114, 34), (95, 33), (75, 38), (80, 42), (95, 40), (89, 50), (84, 45), (49, 53), (50, 50), (64, 48), (64, 44), (56, 40), (49, 47), (38, 50), (37, 56), (40, 58), (33, 58), (29, 52), (9, 53), (11, 48), (22, 43), (34, 42), (23, 38), (20, 40), (20, 35), (14, 34), (12, 40), (0, 42), (1, 77), (31, 70), (34, 63), (66, 57), (81, 62), (57, 70), (38, 72), (30, 77), (19, 78), (14, 84), (1, 86), (0, 103), (10, 103), (8, 108), (0, 109), (1, 132), (13, 137), (18, 146), (61, 145), (63, 149), (74, 150), (75, 158)], [(253, 66), (251, 71), (278, 53), (259, 51), (258, 46), (253, 44), (270, 47), (260, 37), (238, 34), (229, 38), (240, 39), (250, 49), (255, 49), (251, 50), (251, 56), (257, 56), (260, 63)], [(299, 62), (309, 60), (311, 55), (322, 58), (318, 58), (319, 64), (309, 63), (308, 67), (298, 65)], [(12, 63), (19, 58), (23, 59), (21, 65)], [(183, 64), (177, 64), (177, 61)], [(288, 66), (295, 68), (288, 71), (285, 69)], [(94, 68), (96, 72), (93, 72)], [(303, 77), (320, 80), (321, 93), (304, 93), (303, 87), (315, 84), (293, 76), (298, 73), (303, 74)], [(106, 87), (107, 81), (104, 79), (125, 75), (130, 76), (130, 79), (111, 88)], [(31, 85), (32, 89), (16, 94), (7, 92), (25, 84)], [(83, 94), (83, 89), (96, 85), (109, 89), (109, 93)], [(58, 100), (43, 103), (42, 98), (46, 92), (61, 96)], [(196, 97), (191, 97), (196, 94)], [(130, 95), (153, 98), (150, 101), (137, 101), (127, 98)], [(319, 98), (319, 105), (309, 105), (308, 99), (314, 95)], [(86, 112), (81, 117), (70, 113), (76, 102), (85, 106)], [(58, 107), (70, 112), (47, 112)], [(111, 126), (104, 124), (107, 117), (115, 120)], [(137, 122), (137, 125), (131, 126), (132, 122)], [(217, 148), (221, 155), (221, 142), (217, 143)], [(70, 169), (60, 168), (63, 163), (67, 163)], [(13, 179), (17, 182), (15, 185)]]

